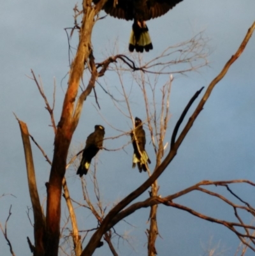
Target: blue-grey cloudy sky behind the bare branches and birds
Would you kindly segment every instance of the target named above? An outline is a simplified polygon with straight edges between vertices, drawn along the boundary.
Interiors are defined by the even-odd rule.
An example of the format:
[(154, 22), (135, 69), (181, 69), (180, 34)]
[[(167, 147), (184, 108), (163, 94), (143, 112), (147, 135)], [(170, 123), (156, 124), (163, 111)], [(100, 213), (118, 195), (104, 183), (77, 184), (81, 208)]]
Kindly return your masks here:
[[(48, 126), (50, 118), (44, 109), (34, 82), (25, 75), (31, 76), (31, 68), (40, 74), (45, 94), (52, 100), (54, 77), (57, 84), (55, 119), (59, 120), (63, 90), (66, 89), (68, 72), (68, 41), (65, 27), (73, 26), (73, 6), (77, 1), (17, 1), (9, 0), (1, 3), (0, 10), (0, 64), (1, 64), (1, 179), (0, 195), (12, 193), (17, 198), (6, 196), (0, 199), (0, 222), (3, 224), (12, 204), (12, 215), (8, 222), (8, 236), (17, 255), (29, 255), (26, 237), (33, 237), (33, 228), (27, 219), (27, 206), (31, 206), (27, 189), (24, 162), (24, 151), (20, 138), (18, 123), (12, 112), (25, 121), (29, 132), (40, 142), (48, 156), (53, 151), (53, 131)], [(209, 82), (221, 71), (223, 65), (235, 53), (245, 33), (255, 20), (254, 0), (184, 0), (160, 19), (148, 22), (154, 50), (146, 54), (150, 58), (157, 56), (168, 45), (188, 40), (194, 34), (205, 30), (210, 38), (212, 54), (208, 57), (210, 67), (203, 68), (200, 73), (190, 73), (188, 77), (178, 77), (173, 81), (171, 89), (171, 121), (170, 132), (180, 116), (187, 101), (200, 87), (207, 87)], [(103, 14), (102, 14), (103, 15)], [(112, 17), (99, 21), (94, 27), (92, 43), (94, 54), (102, 60), (101, 53), (118, 38), (119, 51), (128, 49), (129, 34), (132, 22), (116, 20)], [(75, 34), (77, 36), (77, 34)], [(75, 36), (72, 45), (76, 46)], [(113, 48), (113, 47), (112, 47)], [(177, 157), (170, 167), (159, 178), (160, 193), (168, 195), (190, 186), (203, 179), (251, 179), (254, 181), (255, 171), (255, 36), (251, 38), (244, 54), (233, 64), (212, 93), (193, 128), (180, 147)], [(111, 73), (106, 73), (108, 86), (118, 87)], [(99, 82), (105, 86), (105, 80)], [(166, 79), (163, 79), (164, 82)], [(127, 80), (126, 84), (129, 87)], [(135, 89), (134, 89), (135, 90)], [(103, 91), (97, 87), (101, 113), (106, 119), (119, 128), (131, 126), (128, 119), (119, 112), (110, 110), (112, 103)], [(93, 107), (94, 97), (84, 104), (84, 111), (77, 131), (73, 137), (72, 147), (80, 147), (87, 135), (92, 132), (94, 124), (103, 124), (106, 136), (116, 135), (107, 126)], [(143, 105), (133, 105), (134, 115), (145, 119)], [(135, 112), (136, 109), (137, 112)], [(138, 114), (136, 114), (138, 113)], [(170, 133), (169, 133), (170, 134)], [(114, 143), (128, 142), (129, 137), (115, 142), (107, 140), (105, 146), (115, 147)], [(152, 147), (147, 143), (152, 155)], [(48, 180), (50, 167), (36, 147), (33, 146), (34, 164), (38, 177), (38, 189), (41, 199), (46, 195), (45, 182)], [(109, 205), (121, 199), (147, 176), (131, 169), (132, 148), (126, 147), (119, 153), (103, 151), (99, 156), (99, 183), (103, 198)], [(115, 160), (118, 159), (117, 162)], [(124, 161), (119, 161), (124, 159)], [(152, 167), (151, 167), (152, 169)], [(67, 173), (68, 184), (73, 196), (80, 195), (78, 177), (73, 169)], [(122, 177), (114, 182), (116, 177)], [(122, 183), (123, 181), (123, 183)], [(112, 185), (114, 183), (114, 186)], [(254, 190), (245, 186), (235, 186), (235, 191), (253, 202)], [(142, 195), (141, 199), (147, 197)], [(79, 198), (79, 197), (77, 197)], [(179, 200), (187, 206), (194, 206), (204, 213), (223, 218), (231, 215), (232, 210), (222, 208), (218, 201), (209, 200), (196, 193)], [(118, 232), (130, 232), (133, 236), (132, 250), (127, 244), (120, 245), (120, 255), (146, 255), (146, 236), (144, 230), (149, 215), (148, 209), (128, 218), (136, 228), (125, 223), (117, 226)], [(79, 211), (80, 228), (87, 229), (86, 219)], [(227, 249), (224, 255), (233, 255), (238, 239), (229, 230), (219, 225), (197, 220), (195, 217), (166, 207), (159, 207), (159, 233), (163, 237), (157, 239), (159, 255), (203, 255), (201, 243), (207, 245), (211, 237), (213, 243), (221, 241), (222, 248)], [(143, 247), (145, 245), (145, 247)], [(1, 255), (9, 255), (9, 248), (0, 234)], [(106, 246), (99, 248), (95, 255), (107, 255)], [(105, 254), (106, 253), (106, 254)], [(247, 252), (252, 255), (252, 252)]]

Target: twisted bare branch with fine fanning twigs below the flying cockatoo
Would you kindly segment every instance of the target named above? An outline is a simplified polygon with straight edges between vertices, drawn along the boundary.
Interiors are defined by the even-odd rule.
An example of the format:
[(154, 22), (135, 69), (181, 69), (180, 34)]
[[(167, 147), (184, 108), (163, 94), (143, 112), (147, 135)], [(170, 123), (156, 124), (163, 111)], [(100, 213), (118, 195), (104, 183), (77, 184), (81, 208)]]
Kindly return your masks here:
[[(132, 59), (133, 56), (128, 57), (123, 54), (117, 54), (115, 56), (108, 57), (105, 61), (97, 63), (96, 67), (101, 68), (98, 72), (98, 76), (101, 77), (105, 74), (106, 70), (110, 67), (111, 63), (117, 63), (117, 60), (120, 59), (127, 68), (119, 68), (122, 71), (138, 71), (144, 73), (153, 73), (153, 74), (173, 74), (173, 73), (186, 73), (194, 70), (198, 70), (202, 66), (206, 66), (207, 55), (206, 45), (207, 39), (203, 38), (203, 33), (198, 33), (196, 36), (191, 38), (191, 40), (184, 41), (178, 45), (174, 45), (166, 48), (163, 52), (147, 61), (147, 63), (137, 64), (135, 59)], [(196, 63), (196, 64), (194, 64)], [(187, 67), (182, 70), (173, 70), (173, 66), (177, 64), (187, 64)]]

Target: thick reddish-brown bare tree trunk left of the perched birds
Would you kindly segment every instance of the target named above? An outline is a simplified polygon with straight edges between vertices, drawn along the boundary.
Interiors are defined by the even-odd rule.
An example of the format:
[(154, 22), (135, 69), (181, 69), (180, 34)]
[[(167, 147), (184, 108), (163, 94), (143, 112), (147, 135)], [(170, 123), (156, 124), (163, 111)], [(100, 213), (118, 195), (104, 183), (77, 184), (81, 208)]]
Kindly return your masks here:
[[(45, 248), (47, 256), (57, 256), (59, 248), (62, 179), (66, 170), (69, 145), (80, 117), (73, 119), (75, 99), (80, 79), (84, 72), (84, 63), (91, 53), (91, 33), (96, 13), (98, 13), (96, 8), (92, 8), (91, 3), (87, 4), (87, 1), (84, 1), (84, 17), (80, 29), (80, 41), (77, 54), (71, 65), (68, 89), (64, 98), (61, 119), (57, 125), (52, 168), (50, 170), (50, 179), (47, 183), (47, 243)], [(89, 93), (91, 90), (92, 88)]]

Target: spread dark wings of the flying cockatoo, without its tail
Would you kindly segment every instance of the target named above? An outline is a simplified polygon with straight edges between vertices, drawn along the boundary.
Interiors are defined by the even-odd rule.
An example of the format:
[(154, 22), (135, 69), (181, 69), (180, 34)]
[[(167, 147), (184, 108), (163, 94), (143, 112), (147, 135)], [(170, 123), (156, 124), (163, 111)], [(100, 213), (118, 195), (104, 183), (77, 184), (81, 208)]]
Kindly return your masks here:
[[(150, 20), (164, 15), (181, 1), (183, 0), (108, 0), (103, 9), (118, 19), (133, 20), (139, 15), (143, 20)], [(93, 2), (96, 4), (99, 0)]]

